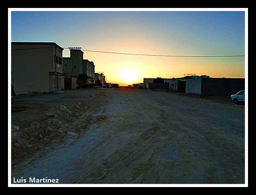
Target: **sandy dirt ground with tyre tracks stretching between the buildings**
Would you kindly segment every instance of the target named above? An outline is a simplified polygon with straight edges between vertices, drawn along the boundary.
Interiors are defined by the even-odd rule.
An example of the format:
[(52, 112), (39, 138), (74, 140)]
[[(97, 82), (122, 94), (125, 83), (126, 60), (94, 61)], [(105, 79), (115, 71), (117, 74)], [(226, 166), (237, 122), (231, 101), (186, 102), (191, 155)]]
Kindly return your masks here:
[[(47, 177), (60, 184), (245, 182), (245, 110), (231, 100), (140, 89), (31, 97), (17, 97), (12, 105), (12, 124), (22, 127), (12, 140), (12, 183), (13, 177), (27, 183), (29, 177)], [(45, 116), (60, 105), (70, 112)]]

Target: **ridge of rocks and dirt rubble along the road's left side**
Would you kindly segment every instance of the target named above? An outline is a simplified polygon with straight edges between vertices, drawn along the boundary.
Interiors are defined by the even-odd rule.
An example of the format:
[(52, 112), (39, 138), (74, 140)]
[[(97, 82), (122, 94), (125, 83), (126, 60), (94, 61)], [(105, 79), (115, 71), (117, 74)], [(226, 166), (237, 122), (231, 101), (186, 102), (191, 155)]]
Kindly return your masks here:
[[(98, 94), (97, 97), (102, 94)], [(72, 104), (69, 107), (58, 105), (45, 112), (43, 122), (33, 121), (28, 128), (20, 130), (12, 124), (12, 165), (20, 162), (20, 159), (32, 155), (37, 151), (46, 149), (49, 151), (58, 145), (70, 145), (86, 129), (89, 123), (103, 120), (104, 116), (88, 114), (97, 97), (90, 98), (86, 102)], [(76, 122), (79, 119), (79, 122)], [(15, 160), (16, 159), (16, 160)]]

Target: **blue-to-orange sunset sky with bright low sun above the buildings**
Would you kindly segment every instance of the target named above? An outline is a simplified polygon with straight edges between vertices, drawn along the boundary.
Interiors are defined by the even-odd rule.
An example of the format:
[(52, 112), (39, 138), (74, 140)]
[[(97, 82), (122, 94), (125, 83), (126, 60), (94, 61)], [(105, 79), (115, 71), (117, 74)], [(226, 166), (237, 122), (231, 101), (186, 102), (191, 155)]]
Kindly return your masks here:
[[(243, 10), (244, 9), (244, 10)], [(179, 56), (248, 54), (248, 9), (9, 10), (11, 41), (56, 42), (82, 50)], [(9, 39), (10, 40), (10, 39)], [(246, 47), (245, 47), (246, 46)], [(143, 83), (143, 78), (184, 74), (245, 78), (248, 56), (166, 57), (83, 51), (109, 83)], [(64, 49), (63, 57), (69, 57)]]

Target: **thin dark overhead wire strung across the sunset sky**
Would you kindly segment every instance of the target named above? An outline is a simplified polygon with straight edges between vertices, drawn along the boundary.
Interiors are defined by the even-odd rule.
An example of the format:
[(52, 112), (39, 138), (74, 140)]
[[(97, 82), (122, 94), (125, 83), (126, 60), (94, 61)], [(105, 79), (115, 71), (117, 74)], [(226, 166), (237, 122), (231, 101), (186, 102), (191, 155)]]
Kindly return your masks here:
[[(43, 49), (43, 48), (53, 48), (53, 47), (40, 47), (40, 48), (29, 48), (29, 49)], [(63, 49), (68, 49), (63, 47)], [(12, 51), (15, 50), (28, 50), (28, 49), (12, 49)], [(84, 50), (80, 49), (82, 51), (90, 51), (90, 52), (100, 52), (100, 53), (108, 53), (108, 54), (125, 54), (125, 55), (146, 55), (146, 56), (164, 56), (164, 57), (241, 57), (245, 55), (217, 55), (217, 56), (192, 56), (192, 55), (149, 55), (149, 54), (127, 54), (127, 53), (116, 53), (116, 52), (102, 52), (102, 51), (92, 51), (92, 50)]]

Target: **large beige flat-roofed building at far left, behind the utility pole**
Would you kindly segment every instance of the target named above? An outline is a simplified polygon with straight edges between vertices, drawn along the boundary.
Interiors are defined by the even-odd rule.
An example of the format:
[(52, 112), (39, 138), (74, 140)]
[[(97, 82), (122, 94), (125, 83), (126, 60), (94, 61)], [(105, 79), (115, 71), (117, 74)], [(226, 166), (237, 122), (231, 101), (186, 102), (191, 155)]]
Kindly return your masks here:
[[(12, 42), (12, 84), (16, 95), (64, 88), (62, 67), (63, 48), (54, 42)], [(56, 52), (56, 56), (55, 56)]]

